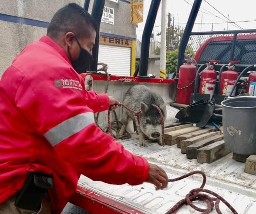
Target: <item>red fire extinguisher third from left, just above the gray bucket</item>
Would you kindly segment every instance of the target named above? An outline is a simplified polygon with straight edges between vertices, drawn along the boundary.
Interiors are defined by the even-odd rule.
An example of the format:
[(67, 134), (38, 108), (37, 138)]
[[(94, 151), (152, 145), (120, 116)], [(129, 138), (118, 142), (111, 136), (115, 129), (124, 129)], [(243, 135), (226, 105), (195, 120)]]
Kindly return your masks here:
[[(238, 78), (238, 73), (235, 71), (234, 64), (239, 63), (239, 61), (230, 61), (228, 64), (228, 70), (222, 72), (220, 78), (220, 94), (224, 96), (229, 96), (230, 92), (235, 85)], [(233, 91), (231, 96), (235, 96), (235, 91)]]

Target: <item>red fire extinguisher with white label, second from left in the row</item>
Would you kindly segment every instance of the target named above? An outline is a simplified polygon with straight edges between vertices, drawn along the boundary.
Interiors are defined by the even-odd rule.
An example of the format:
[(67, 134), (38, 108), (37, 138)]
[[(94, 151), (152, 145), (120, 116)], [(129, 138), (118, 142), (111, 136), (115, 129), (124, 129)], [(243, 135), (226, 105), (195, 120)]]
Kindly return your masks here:
[(201, 72), (201, 82), (199, 93), (206, 93), (212, 96), (216, 87), (217, 72), (213, 70), (214, 64), (219, 63), (218, 60), (209, 60), (206, 70)]

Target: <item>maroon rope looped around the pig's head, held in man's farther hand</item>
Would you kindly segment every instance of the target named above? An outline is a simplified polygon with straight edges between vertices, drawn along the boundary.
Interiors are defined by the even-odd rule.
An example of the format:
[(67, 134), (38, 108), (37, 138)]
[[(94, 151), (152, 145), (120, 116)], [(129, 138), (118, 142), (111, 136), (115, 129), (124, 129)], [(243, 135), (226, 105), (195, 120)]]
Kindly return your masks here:
[[(127, 106), (124, 105), (123, 103), (120, 103), (120, 106), (123, 106), (125, 109), (127, 109), (127, 111), (133, 113), (133, 114), (134, 114), (134, 117), (137, 118), (138, 124), (140, 123), (140, 122), (139, 122), (139, 115), (141, 114), (140, 108), (138, 109), (138, 111), (134, 111), (133, 109), (127, 107)], [(155, 107), (155, 108), (158, 110), (158, 112), (159, 112), (159, 114), (160, 114), (160, 117), (161, 117), (161, 125), (162, 125), (162, 145), (164, 146), (164, 145), (165, 145), (164, 116), (162, 115), (161, 109), (160, 109), (158, 106), (156, 106), (156, 105), (151, 105), (151, 106)], [(111, 134), (111, 136), (113, 137), (112, 127), (111, 127), (111, 122), (110, 122), (110, 112), (111, 112), (111, 111), (110, 111), (110, 109), (109, 109), (109, 110), (108, 110), (108, 116), (107, 116), (107, 118), (108, 118), (108, 131), (109, 131), (109, 133)]]

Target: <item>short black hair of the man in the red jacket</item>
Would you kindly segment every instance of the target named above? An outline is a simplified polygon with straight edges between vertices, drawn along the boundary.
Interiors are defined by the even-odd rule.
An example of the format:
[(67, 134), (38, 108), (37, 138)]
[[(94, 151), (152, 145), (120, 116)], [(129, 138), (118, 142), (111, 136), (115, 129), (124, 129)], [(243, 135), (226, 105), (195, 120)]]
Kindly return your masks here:
[(76, 3), (70, 3), (54, 14), (47, 28), (47, 36), (58, 38), (67, 32), (73, 32), (77, 38), (88, 38), (92, 30), (97, 32), (97, 28), (95, 19), (85, 9)]

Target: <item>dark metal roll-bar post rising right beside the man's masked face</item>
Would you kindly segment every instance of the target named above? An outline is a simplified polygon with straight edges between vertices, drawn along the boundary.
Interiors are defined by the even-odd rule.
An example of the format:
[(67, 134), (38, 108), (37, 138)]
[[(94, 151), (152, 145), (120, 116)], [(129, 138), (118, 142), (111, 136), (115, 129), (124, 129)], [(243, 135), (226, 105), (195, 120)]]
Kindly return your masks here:
[(97, 64), (98, 64), (98, 47), (99, 47), (99, 38), (100, 38), (100, 23), (101, 23), (101, 17), (103, 13), (105, 5), (105, 0), (94, 0), (94, 4), (92, 6), (92, 17), (95, 18), (97, 22), (97, 32), (96, 32), (96, 38), (95, 38), (95, 45), (92, 48), (92, 56), (94, 60), (92, 61), (90, 65), (90, 71), (97, 71)]

